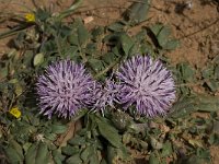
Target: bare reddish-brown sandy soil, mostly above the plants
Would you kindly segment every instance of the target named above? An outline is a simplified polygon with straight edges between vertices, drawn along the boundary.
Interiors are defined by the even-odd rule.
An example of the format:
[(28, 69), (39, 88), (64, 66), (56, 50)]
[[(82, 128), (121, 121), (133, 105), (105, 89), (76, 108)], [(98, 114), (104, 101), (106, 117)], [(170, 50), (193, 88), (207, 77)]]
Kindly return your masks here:
[[(34, 1), (34, 0), (33, 0)], [(24, 14), (35, 5), (47, 5), (53, 11), (67, 8), (70, 0), (0, 0), (0, 15)], [(85, 0), (76, 13), (77, 16), (93, 16), (89, 28), (95, 25), (106, 25), (118, 20), (125, 9), (131, 3), (127, 0)], [(26, 8), (27, 7), (27, 8)], [(172, 27), (173, 34), (181, 40), (181, 46), (166, 56), (175, 65), (188, 61), (196, 68), (201, 68), (207, 60), (219, 55), (219, 2), (214, 0), (151, 0), (148, 17), (151, 22), (161, 22)], [(131, 30), (136, 33), (148, 22)], [(4, 32), (11, 22), (0, 20), (0, 33)], [(9, 51), (9, 38), (0, 40), (0, 56)], [(210, 148), (214, 163), (219, 162), (219, 148)]]

